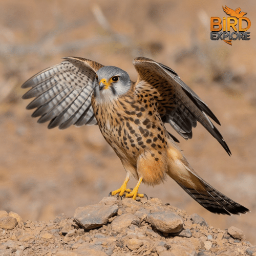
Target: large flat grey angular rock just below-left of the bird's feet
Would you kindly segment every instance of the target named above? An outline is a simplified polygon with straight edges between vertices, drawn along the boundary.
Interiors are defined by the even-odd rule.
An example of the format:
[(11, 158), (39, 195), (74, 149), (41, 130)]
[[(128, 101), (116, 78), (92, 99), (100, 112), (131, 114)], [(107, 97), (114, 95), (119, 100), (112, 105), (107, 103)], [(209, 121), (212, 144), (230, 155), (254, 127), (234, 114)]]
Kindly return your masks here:
[(74, 220), (84, 229), (92, 229), (106, 224), (118, 211), (118, 206), (95, 204), (86, 207), (78, 207), (74, 214)]

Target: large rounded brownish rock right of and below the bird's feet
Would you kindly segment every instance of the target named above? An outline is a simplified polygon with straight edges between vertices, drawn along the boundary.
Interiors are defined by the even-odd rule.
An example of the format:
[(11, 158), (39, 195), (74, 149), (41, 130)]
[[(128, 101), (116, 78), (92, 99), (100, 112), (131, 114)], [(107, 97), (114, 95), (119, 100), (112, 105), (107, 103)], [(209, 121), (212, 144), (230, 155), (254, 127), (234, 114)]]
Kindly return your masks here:
[(145, 220), (164, 233), (177, 233), (183, 227), (182, 218), (169, 211), (153, 212), (148, 214)]

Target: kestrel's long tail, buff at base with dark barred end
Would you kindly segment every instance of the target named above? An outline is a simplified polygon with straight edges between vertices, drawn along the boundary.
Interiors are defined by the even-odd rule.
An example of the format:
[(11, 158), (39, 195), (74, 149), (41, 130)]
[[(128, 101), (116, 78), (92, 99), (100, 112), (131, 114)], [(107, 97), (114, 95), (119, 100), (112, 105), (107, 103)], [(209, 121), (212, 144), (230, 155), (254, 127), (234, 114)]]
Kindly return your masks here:
[[(170, 150), (169, 153), (174, 153), (174, 151)], [(250, 211), (241, 204), (226, 197), (199, 177), (184, 158), (177, 158), (173, 154), (169, 154), (169, 156), (172, 158), (172, 161), (169, 161), (168, 175), (205, 209), (214, 214), (223, 215), (240, 215)]]

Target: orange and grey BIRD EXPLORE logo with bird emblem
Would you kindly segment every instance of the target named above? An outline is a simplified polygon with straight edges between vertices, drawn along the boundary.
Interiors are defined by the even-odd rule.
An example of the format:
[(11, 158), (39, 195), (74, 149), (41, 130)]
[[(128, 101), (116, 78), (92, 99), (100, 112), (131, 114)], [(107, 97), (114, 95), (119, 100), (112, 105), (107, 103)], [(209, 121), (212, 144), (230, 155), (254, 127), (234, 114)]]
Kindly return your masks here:
[[(247, 12), (241, 12), (241, 8), (236, 10), (227, 6), (222, 6), (222, 8), (230, 17), (223, 17), (223, 20), (220, 17), (210, 17), (210, 39), (220, 39), (229, 45), (232, 45), (232, 40), (250, 40), (250, 32), (247, 30), (251, 26), (251, 21), (245, 17)], [(230, 28), (233, 32), (230, 31)], [(223, 31), (221, 32), (221, 30)]]

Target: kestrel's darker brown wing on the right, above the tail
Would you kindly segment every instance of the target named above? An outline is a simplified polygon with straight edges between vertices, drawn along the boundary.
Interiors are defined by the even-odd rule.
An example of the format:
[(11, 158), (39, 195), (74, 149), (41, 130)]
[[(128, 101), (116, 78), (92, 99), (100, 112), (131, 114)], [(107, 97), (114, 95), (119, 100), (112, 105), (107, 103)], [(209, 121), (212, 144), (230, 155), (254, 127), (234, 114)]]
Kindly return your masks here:
[(172, 69), (144, 57), (135, 58), (133, 63), (138, 72), (136, 93), (148, 93), (157, 101), (163, 122), (172, 125), (183, 138), (190, 139), (192, 128), (199, 121), (231, 155), (222, 135), (208, 118), (220, 125), (217, 117)]

